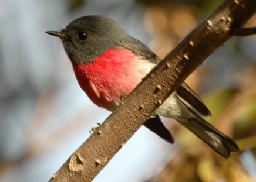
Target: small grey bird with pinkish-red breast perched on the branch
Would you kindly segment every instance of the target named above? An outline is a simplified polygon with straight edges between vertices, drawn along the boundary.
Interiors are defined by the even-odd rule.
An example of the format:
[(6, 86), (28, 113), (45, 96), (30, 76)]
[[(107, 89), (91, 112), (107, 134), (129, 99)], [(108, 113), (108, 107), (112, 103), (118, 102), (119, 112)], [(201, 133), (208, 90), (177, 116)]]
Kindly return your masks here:
[[(83, 16), (63, 29), (46, 33), (62, 41), (78, 84), (90, 100), (111, 112), (161, 61), (118, 22), (102, 15)], [(203, 118), (211, 116), (211, 112), (185, 82), (144, 123), (161, 138), (173, 143), (173, 136), (160, 116), (175, 119), (220, 156), (228, 158), (231, 152), (239, 151), (234, 140)]]

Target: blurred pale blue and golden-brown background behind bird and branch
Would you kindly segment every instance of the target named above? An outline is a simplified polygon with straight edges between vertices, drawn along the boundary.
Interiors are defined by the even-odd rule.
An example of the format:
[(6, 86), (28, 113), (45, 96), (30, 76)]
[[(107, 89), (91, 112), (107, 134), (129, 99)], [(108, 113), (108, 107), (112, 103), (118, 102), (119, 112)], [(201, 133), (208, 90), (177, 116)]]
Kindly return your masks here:
[[(73, 19), (105, 15), (164, 57), (222, 1), (2, 0), (0, 181), (48, 181), (110, 112), (79, 88), (59, 39)], [(246, 26), (255, 26), (254, 16)], [(239, 154), (225, 160), (175, 121), (170, 145), (144, 126), (94, 181), (256, 181), (256, 36), (233, 37), (187, 79)]]

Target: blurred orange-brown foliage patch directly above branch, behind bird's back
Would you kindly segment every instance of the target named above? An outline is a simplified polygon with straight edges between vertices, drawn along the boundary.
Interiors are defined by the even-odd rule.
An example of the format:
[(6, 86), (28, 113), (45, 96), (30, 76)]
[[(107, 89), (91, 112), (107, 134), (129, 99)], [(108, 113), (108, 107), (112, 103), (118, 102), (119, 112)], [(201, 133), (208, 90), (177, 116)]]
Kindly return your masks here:
[(193, 29), (198, 20), (198, 8), (191, 5), (156, 4), (144, 15), (145, 29), (153, 36), (150, 47), (165, 56), (178, 41)]

